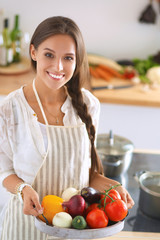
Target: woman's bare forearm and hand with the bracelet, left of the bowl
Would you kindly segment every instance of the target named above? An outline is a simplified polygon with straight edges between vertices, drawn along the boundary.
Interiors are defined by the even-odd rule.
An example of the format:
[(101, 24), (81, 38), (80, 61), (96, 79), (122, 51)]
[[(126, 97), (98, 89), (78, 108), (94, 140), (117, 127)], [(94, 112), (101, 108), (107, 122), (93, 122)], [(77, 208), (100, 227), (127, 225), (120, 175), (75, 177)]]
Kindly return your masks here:
[[(24, 183), (24, 181), (16, 174), (9, 175), (3, 180), (3, 186), (13, 194), (17, 194), (17, 186), (21, 183)], [(25, 186), (22, 190), (22, 195), (24, 214), (38, 216), (43, 213), (39, 203), (39, 196), (32, 187)]]

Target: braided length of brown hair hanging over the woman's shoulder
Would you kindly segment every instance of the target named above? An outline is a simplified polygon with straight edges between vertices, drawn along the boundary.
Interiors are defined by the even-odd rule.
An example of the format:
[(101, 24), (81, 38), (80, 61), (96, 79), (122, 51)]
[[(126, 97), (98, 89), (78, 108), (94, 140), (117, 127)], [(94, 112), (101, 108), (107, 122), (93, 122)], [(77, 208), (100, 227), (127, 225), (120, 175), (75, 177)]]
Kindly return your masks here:
[(76, 79), (74, 78), (74, 80), (71, 79), (69, 81), (69, 84), (67, 84), (67, 89), (72, 99), (73, 107), (76, 109), (77, 114), (81, 118), (82, 122), (86, 124), (86, 129), (91, 142), (91, 175), (90, 176), (92, 176), (92, 174), (95, 171), (102, 174), (103, 167), (95, 148), (95, 127), (92, 123), (92, 118), (88, 113), (87, 105), (83, 101), (83, 95), (79, 85), (80, 85), (79, 77), (76, 77)]

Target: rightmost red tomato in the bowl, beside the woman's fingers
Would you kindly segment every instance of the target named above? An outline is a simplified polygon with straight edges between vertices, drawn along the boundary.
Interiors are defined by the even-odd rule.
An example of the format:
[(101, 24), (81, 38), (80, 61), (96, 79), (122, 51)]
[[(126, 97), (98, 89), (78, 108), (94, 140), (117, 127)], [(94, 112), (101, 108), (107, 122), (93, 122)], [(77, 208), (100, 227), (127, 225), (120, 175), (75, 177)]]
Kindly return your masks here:
[(128, 208), (123, 200), (116, 199), (106, 205), (105, 212), (111, 221), (118, 222), (127, 216)]

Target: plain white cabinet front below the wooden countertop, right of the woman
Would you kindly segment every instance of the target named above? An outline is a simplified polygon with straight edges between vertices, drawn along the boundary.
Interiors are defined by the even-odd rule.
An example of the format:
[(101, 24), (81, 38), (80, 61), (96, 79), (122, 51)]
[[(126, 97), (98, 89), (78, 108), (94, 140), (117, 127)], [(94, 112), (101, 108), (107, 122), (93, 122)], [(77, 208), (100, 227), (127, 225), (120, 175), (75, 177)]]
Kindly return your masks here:
[(160, 108), (101, 103), (98, 133), (110, 129), (135, 148), (160, 150)]

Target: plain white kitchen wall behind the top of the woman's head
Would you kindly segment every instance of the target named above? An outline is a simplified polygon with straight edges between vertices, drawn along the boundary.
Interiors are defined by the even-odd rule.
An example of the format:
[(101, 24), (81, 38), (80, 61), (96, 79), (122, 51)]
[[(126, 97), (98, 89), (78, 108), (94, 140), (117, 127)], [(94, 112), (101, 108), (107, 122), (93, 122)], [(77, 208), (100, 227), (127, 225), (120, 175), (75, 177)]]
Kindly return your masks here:
[(156, 0), (153, 1), (158, 18), (156, 24), (141, 24), (138, 18), (148, 0), (1, 0), (5, 17), (21, 17), (21, 29), (33, 33), (45, 18), (64, 15), (79, 25), (88, 52), (112, 59), (145, 58), (160, 49), (160, 20)]

